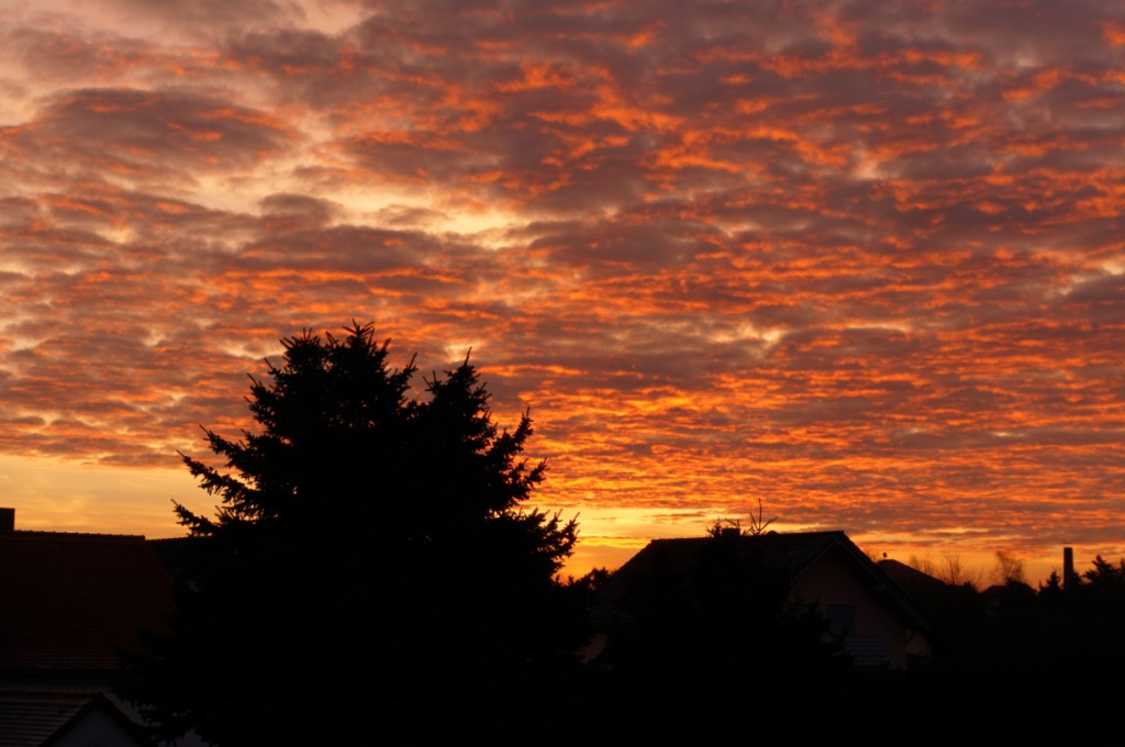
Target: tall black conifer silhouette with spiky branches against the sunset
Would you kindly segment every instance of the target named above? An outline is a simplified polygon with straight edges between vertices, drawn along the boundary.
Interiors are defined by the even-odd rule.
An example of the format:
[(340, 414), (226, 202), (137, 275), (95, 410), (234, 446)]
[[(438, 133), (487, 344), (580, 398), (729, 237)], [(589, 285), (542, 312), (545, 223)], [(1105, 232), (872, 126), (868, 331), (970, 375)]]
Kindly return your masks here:
[(505, 740), (582, 636), (556, 579), (576, 523), (521, 507), (544, 472), (521, 459), (530, 417), (501, 431), (468, 358), (412, 397), (413, 360), (392, 369), (371, 325), (281, 342), (251, 382), (259, 430), (206, 431), (225, 469), (183, 457), (222, 505), (177, 504), (172, 632), (123, 694), (160, 737), (223, 746), (367, 744), (372, 723), (380, 744)]

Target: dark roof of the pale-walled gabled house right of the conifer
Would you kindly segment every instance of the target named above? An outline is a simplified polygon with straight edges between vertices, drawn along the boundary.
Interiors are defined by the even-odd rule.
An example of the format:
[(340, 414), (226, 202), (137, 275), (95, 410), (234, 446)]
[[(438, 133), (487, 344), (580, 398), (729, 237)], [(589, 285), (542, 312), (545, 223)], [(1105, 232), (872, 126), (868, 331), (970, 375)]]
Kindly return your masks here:
[[(843, 531), (767, 532), (735, 536), (732, 539), (746, 550), (758, 554), (771, 567), (788, 572), (793, 580), (819, 558), (829, 552), (840, 552), (872, 593), (888, 597), (911, 627), (933, 634), (934, 626), (921, 609)], [(686, 578), (699, 566), (703, 551), (714, 541), (711, 537), (650, 541), (613, 574), (606, 585), (608, 597), (620, 597), (633, 579), (650, 577), (654, 573)]]

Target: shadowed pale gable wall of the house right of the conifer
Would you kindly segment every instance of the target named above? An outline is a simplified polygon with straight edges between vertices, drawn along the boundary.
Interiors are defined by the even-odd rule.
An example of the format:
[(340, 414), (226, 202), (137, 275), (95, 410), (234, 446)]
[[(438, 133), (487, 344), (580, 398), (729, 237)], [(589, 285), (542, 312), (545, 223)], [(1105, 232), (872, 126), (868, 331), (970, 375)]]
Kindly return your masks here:
[(874, 594), (866, 579), (856, 573), (854, 562), (840, 551), (820, 557), (796, 577), (790, 601), (818, 604), (826, 614), (829, 605), (854, 606), (855, 618), (849, 633), (856, 637), (854, 642), (864, 648), (864, 638), (881, 639), (886, 663), (893, 668), (906, 667), (909, 655), (928, 656), (930, 649), (926, 637), (907, 630), (888, 601)]

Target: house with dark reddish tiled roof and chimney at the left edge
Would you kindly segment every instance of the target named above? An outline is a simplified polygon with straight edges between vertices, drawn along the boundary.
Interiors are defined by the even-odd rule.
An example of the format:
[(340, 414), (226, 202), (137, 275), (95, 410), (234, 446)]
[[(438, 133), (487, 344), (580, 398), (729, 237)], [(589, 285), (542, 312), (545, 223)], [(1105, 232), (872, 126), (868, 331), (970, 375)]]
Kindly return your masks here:
[[(144, 537), (18, 531), (15, 510), (0, 508), (0, 744), (147, 744), (110, 685), (117, 652), (137, 650), (171, 610)], [(55, 732), (14, 736), (43, 729)], [(82, 735), (98, 737), (73, 741)]]

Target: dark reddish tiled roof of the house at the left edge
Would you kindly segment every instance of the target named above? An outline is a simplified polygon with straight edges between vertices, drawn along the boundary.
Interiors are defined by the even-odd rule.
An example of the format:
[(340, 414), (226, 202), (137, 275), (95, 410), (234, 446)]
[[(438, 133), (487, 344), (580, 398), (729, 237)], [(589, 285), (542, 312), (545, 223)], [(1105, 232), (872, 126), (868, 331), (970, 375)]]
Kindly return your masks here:
[(115, 669), (171, 580), (140, 536), (0, 531), (0, 670)]

